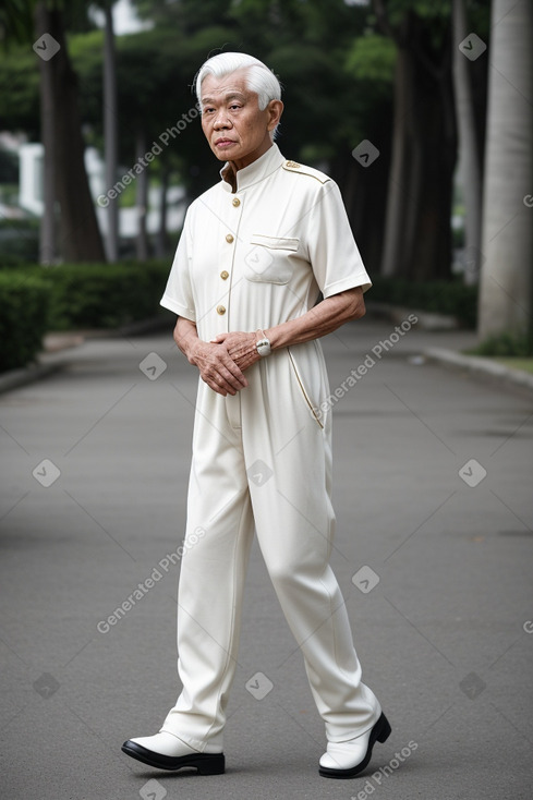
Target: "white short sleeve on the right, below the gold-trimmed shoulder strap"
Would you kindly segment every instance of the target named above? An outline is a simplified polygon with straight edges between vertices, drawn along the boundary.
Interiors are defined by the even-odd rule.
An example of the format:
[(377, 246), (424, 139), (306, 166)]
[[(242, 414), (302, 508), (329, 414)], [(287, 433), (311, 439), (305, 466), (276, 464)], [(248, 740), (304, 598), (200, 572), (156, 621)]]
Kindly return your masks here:
[(353, 238), (344, 204), (335, 181), (320, 185), (307, 227), (308, 256), (324, 298), (372, 281)]

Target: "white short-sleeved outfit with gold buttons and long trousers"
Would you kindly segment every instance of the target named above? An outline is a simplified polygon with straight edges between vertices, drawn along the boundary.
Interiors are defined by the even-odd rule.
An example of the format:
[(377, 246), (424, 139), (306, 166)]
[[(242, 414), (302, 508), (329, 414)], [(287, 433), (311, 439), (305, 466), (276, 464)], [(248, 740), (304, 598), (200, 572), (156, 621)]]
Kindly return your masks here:
[[(189, 208), (161, 304), (201, 339), (263, 330), (370, 278), (337, 184), (286, 161), (277, 145)], [(161, 730), (203, 751), (222, 744), (254, 533), (304, 657), (329, 741), (373, 727), (380, 707), (361, 680), (348, 615), (329, 567), (331, 420), (317, 340), (282, 348), (222, 397), (199, 380), (178, 607), (183, 690)], [(194, 535), (202, 529), (203, 535)], [(191, 540), (193, 542), (193, 540)]]

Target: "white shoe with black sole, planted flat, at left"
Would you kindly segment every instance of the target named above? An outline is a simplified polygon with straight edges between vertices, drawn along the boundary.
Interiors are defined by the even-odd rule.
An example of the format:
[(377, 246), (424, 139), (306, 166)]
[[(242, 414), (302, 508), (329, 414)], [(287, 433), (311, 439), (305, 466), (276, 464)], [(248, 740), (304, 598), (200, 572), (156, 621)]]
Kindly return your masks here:
[(159, 769), (189, 766), (196, 767), (201, 775), (221, 775), (225, 772), (223, 753), (215, 744), (206, 744), (201, 753), (173, 734), (165, 731), (129, 739), (122, 744), (122, 752)]

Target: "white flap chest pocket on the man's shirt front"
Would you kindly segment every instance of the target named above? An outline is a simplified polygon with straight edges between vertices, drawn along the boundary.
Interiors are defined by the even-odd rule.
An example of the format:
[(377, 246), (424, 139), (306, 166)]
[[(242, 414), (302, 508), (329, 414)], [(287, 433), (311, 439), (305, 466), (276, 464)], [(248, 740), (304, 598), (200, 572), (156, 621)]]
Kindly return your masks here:
[(288, 283), (293, 271), (290, 256), (299, 244), (299, 239), (253, 234), (250, 252), (244, 257), (246, 279), (254, 283)]

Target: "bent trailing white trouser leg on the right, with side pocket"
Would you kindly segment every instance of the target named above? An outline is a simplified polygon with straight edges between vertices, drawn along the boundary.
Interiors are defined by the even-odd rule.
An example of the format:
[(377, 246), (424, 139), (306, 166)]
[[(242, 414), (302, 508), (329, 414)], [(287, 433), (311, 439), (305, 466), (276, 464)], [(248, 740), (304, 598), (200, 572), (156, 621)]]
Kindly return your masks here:
[[(300, 361), (305, 367), (305, 359)], [(261, 385), (268, 403), (251, 393), (243, 405), (246, 464), (268, 468), (263, 468), (267, 480), (250, 483), (257, 537), (327, 738), (343, 741), (371, 728), (380, 707), (361, 680), (347, 608), (329, 567), (335, 526), (329, 421), (320, 427), (303, 401), (305, 368), (295, 380), (293, 365), (282, 356), (261, 372), (254, 389)], [(269, 419), (263, 420), (265, 414)]]

